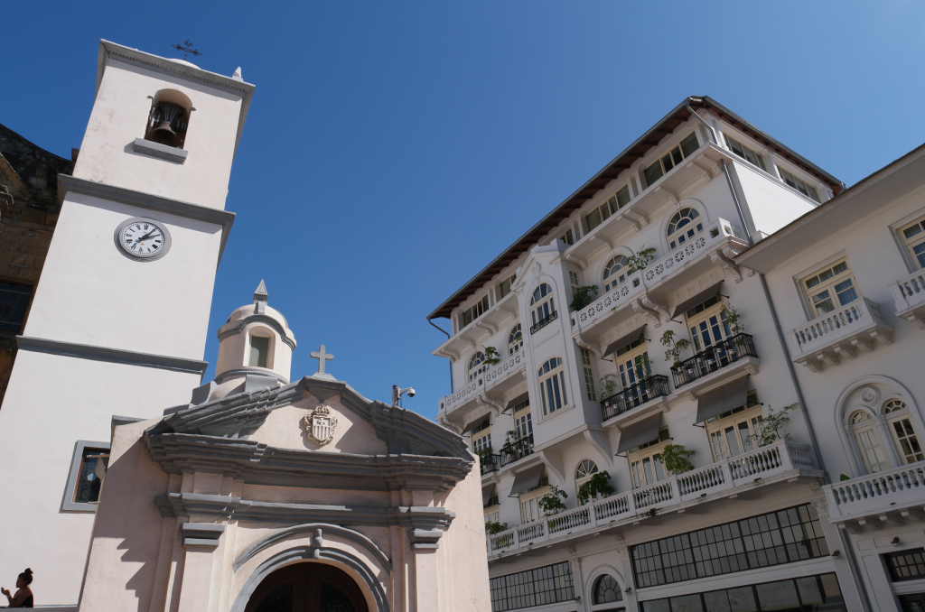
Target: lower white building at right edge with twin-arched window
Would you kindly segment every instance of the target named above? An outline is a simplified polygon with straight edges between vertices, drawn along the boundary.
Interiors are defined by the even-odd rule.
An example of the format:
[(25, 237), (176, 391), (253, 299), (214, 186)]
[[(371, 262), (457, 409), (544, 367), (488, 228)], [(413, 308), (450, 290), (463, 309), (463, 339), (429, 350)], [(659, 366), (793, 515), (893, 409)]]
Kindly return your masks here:
[(925, 609), (925, 148), (735, 261), (767, 276), (870, 609)]

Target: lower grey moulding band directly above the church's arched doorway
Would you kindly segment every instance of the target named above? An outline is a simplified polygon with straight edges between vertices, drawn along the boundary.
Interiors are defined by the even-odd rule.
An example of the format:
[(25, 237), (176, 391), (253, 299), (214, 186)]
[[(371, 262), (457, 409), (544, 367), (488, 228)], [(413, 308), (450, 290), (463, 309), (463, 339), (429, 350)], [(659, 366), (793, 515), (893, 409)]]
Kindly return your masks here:
[(446, 508), (422, 506), (320, 506), (259, 502), (233, 496), (170, 493), (154, 497), (161, 516), (168, 519), (195, 516), (197, 520), (244, 520), (279, 523), (329, 522), (336, 525), (402, 527), (446, 531), (455, 513)]

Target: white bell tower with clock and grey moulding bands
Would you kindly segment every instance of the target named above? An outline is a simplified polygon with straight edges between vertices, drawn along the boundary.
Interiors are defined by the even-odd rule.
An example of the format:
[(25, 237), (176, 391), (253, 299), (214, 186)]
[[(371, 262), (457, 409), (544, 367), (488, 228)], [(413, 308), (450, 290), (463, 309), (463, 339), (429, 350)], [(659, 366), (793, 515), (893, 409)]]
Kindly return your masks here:
[(252, 94), (240, 69), (100, 43), (93, 112), (73, 177), (60, 177), (0, 410), (0, 576), (31, 567), (42, 604), (78, 603), (113, 415), (159, 416), (201, 384)]

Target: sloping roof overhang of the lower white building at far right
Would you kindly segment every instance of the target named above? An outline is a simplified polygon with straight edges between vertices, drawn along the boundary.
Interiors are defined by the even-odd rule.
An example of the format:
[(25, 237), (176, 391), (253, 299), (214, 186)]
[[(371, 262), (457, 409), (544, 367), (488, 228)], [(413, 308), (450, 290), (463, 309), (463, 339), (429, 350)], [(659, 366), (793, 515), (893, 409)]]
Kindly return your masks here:
[(833, 236), (874, 213), (884, 203), (925, 185), (925, 144), (814, 208), (735, 258), (735, 263), (766, 274), (799, 256), (807, 245)]

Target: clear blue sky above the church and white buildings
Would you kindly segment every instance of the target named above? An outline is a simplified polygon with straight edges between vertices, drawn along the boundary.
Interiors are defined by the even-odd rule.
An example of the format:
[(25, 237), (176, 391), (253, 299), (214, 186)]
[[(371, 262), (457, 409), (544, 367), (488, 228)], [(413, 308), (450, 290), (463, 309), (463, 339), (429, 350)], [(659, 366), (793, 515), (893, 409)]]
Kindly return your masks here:
[(426, 314), (686, 95), (851, 185), (925, 141), (923, 33), (925, 4), (894, 0), (20, 2), (0, 123), (80, 146), (101, 38), (165, 56), (190, 38), (200, 67), (242, 67), (204, 358), (265, 278), (293, 378), (324, 343), (329, 373), (384, 401), (414, 386), (405, 408), (433, 417), (450, 382)]

